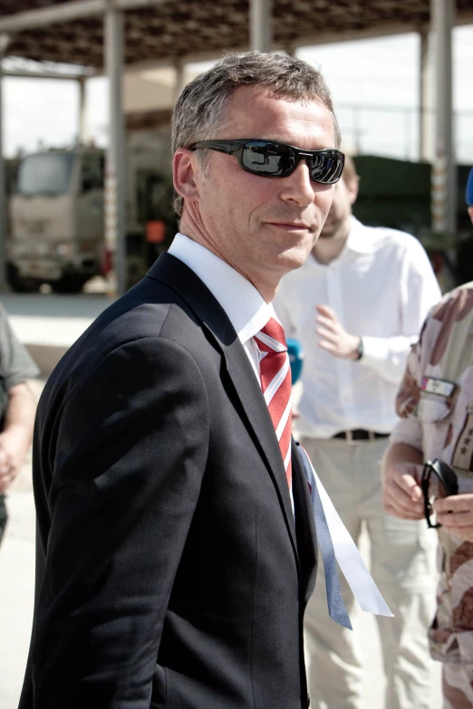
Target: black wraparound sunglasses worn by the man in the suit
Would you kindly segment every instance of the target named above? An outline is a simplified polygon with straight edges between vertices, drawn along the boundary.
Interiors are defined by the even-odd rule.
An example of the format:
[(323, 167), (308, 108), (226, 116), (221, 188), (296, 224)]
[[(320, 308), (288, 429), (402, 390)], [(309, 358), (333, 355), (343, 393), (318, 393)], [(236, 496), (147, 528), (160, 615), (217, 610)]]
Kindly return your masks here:
[(234, 155), (247, 172), (262, 177), (288, 177), (299, 160), (305, 160), (311, 179), (321, 185), (334, 185), (342, 177), (345, 156), (340, 150), (301, 150), (274, 140), (200, 140), (189, 150), (208, 148)]

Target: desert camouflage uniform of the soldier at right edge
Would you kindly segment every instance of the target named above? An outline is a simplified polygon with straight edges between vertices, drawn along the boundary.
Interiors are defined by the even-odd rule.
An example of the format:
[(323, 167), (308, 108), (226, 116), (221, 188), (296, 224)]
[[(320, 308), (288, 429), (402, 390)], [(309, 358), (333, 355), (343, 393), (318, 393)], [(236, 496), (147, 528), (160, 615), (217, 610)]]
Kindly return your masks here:
[[(473, 493), (473, 282), (430, 312), (412, 347), (396, 408), (401, 420), (391, 442), (422, 450), (425, 460), (441, 458), (458, 474), (459, 493)], [(431, 654), (443, 663), (445, 709), (472, 709), (473, 543), (441, 529), (439, 541)]]

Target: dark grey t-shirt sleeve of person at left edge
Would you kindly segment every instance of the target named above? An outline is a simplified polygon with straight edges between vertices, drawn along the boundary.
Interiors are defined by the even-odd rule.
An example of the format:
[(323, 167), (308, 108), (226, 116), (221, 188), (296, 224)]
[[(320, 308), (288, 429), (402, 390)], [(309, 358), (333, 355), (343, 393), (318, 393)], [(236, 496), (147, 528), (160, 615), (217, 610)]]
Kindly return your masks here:
[(5, 309), (0, 305), (0, 375), (5, 391), (26, 379), (37, 377), (40, 371), (34, 359), (24, 349), (12, 330)]

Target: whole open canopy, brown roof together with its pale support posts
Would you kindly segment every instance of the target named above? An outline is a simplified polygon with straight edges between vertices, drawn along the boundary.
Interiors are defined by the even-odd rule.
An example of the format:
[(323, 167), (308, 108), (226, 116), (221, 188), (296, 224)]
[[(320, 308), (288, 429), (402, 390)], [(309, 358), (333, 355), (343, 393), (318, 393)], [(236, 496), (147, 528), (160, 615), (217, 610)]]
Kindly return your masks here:
[[(105, 238), (116, 254), (117, 290), (122, 292), (126, 200), (121, 93), (125, 69), (173, 67), (175, 96), (182, 86), (185, 63), (217, 58), (226, 50), (294, 51), (308, 44), (419, 32), (422, 115), (427, 37), (433, 30), (437, 40), (437, 159), (432, 223), (437, 231), (452, 232), (451, 30), (454, 24), (470, 23), (471, 0), (0, 0), (0, 59), (9, 56), (39, 62), (34, 72), (26, 72), (29, 75), (51, 75), (54, 64), (82, 67), (82, 101), (87, 75), (105, 72), (109, 76)], [(60, 78), (64, 77), (63, 73)], [(0, 81), (0, 288), (5, 283), (1, 112)]]

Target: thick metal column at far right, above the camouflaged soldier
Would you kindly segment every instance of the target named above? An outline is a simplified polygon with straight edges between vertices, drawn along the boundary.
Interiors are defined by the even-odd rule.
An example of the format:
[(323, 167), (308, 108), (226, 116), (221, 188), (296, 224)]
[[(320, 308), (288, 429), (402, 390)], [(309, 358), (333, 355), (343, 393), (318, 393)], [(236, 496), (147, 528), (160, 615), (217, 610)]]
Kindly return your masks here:
[(432, 165), (432, 228), (456, 232), (457, 174), (453, 156), (452, 48), (455, 0), (430, 0), (435, 36), (436, 127)]

